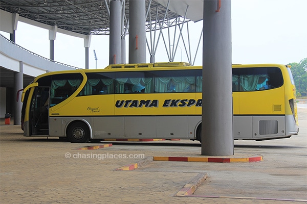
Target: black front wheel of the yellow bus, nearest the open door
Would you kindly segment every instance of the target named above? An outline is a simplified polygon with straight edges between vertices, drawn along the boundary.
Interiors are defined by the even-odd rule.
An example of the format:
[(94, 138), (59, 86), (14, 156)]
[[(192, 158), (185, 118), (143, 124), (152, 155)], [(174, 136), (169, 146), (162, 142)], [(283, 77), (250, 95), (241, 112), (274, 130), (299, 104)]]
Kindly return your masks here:
[(90, 129), (84, 122), (74, 122), (68, 127), (67, 138), (71, 143), (85, 143), (90, 139)]

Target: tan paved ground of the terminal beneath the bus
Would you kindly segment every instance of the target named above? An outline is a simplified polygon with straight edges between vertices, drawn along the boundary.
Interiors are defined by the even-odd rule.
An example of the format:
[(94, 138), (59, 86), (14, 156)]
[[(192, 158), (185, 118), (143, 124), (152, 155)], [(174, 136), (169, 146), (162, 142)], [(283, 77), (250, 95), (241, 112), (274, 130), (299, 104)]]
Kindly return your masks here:
[[(235, 141), (235, 157), (253, 163), (153, 161), (116, 171), (144, 157), (200, 156), (197, 141), (102, 142), (110, 147), (25, 138), (19, 125), (0, 126), (1, 203), (303, 203), (307, 202), (307, 109), (289, 139)], [(92, 144), (93, 145), (93, 144)], [(124, 158), (127, 157), (127, 158)], [(129, 158), (131, 157), (131, 158)], [(208, 178), (191, 196), (174, 196), (199, 173)], [(296, 201), (295, 201), (296, 200)]]

